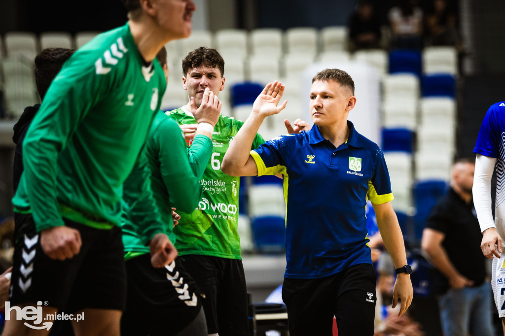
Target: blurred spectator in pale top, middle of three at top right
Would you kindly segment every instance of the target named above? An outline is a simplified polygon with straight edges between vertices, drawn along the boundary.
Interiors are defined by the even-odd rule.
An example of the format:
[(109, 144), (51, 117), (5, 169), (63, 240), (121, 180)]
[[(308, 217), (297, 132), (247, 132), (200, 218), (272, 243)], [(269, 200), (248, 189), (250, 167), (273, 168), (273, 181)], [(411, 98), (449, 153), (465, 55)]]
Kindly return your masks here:
[(398, 0), (388, 13), (393, 48), (421, 49), (423, 47), (423, 11), (417, 0)]

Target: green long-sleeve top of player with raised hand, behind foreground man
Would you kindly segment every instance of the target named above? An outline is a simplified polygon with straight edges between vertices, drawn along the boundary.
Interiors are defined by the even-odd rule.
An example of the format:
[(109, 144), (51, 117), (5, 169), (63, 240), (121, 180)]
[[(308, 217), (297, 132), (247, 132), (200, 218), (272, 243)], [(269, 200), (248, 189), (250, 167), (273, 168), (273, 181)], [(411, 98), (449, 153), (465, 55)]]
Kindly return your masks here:
[[(143, 242), (152, 238), (143, 237), (144, 232), (138, 229), (137, 222), (149, 213), (144, 212), (145, 207), (139, 206), (148, 195), (139, 194), (136, 186), (151, 184), (165, 233), (175, 243), (172, 207), (178, 212), (191, 212), (198, 205), (202, 192), (199, 179), (211, 157), (212, 141), (205, 135), (196, 135), (188, 150), (179, 125), (158, 111), (147, 137), (145, 152), (150, 176), (141, 166), (136, 166), (124, 183), (121, 226), (126, 259), (148, 253), (149, 248)], [(148, 189), (141, 190), (146, 192)]]

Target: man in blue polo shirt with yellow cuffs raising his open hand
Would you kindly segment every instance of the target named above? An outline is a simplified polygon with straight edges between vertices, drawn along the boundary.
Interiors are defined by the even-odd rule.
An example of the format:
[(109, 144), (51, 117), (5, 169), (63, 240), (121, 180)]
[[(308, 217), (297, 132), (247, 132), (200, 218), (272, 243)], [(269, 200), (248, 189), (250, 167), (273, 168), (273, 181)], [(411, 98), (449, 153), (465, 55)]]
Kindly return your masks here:
[(221, 169), (233, 176), (283, 175), (287, 266), (282, 298), (289, 334), (331, 335), (335, 315), (339, 335), (371, 336), (376, 277), (367, 245), (367, 198), (397, 267), (393, 307), (401, 298), (399, 315), (413, 295), (384, 156), (347, 121), (356, 104), (354, 81), (338, 69), (313, 78), (312, 130), (279, 136), (249, 152), (263, 120), (286, 106), (287, 101), (277, 106), (283, 91), (279, 82), (265, 87)]

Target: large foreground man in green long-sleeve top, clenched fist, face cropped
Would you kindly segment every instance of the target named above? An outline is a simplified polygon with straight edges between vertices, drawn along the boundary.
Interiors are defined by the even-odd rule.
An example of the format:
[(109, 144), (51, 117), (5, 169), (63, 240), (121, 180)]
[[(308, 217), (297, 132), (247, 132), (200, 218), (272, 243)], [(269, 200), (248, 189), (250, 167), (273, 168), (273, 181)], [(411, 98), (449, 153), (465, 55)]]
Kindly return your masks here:
[[(195, 10), (191, 0), (123, 2), (128, 23), (72, 55), (26, 135), (25, 171), (13, 199), (10, 299), (18, 309), (47, 306), (38, 305), (40, 318), (30, 323), (20, 310), (6, 311), (4, 335), (47, 334), (48, 314), (61, 309), (83, 313), (82, 321), (72, 322), (77, 334), (120, 333), (126, 293), (118, 227), (123, 182), (135, 162), (146, 160), (141, 148), (165, 92), (156, 53), (189, 36)], [(152, 197), (142, 202), (149, 215), (138, 224), (153, 265), (162, 267), (176, 251)], [(42, 317), (49, 318), (46, 329), (40, 329)]]

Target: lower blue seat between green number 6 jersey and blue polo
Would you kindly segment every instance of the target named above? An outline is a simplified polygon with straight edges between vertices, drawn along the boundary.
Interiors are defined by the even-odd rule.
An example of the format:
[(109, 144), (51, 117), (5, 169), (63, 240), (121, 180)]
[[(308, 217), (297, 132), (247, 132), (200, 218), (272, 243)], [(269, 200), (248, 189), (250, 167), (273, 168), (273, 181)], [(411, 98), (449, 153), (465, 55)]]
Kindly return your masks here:
[(252, 219), (252, 240), (260, 252), (284, 252), (286, 249), (286, 224), (280, 216)]

